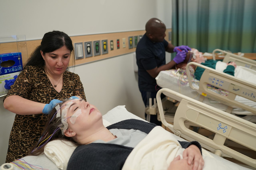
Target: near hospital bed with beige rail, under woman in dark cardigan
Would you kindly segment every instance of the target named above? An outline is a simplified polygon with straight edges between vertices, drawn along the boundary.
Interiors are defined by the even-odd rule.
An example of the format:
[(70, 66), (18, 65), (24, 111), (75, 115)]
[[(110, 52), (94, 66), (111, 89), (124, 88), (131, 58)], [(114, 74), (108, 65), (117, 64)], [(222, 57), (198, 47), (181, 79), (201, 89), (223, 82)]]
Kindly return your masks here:
[[(165, 89), (163, 89), (163, 90), (165, 90)], [(163, 90), (161, 90), (158, 93), (158, 96)], [(225, 135), (228, 134), (229, 137), (227, 137), (227, 138), (232, 138), (232, 139), (234, 138), (238, 141), (240, 139), (240, 141), (239, 141), (240, 143), (255, 150), (255, 143), (256, 143), (256, 141), (255, 141), (255, 139), (256, 139), (255, 138), (256, 137), (255, 125), (249, 124), (249, 125), (242, 126), (240, 124), (244, 120), (241, 120), (240, 118), (234, 118), (230, 114), (219, 111), (218, 109), (214, 109), (211, 107), (209, 108), (209, 106), (206, 104), (203, 104), (196, 100), (190, 99), (189, 97), (186, 97), (184, 95), (175, 93), (173, 91), (170, 92), (170, 91), (171, 90), (168, 90), (168, 89), (166, 90), (167, 93), (174, 94), (176, 96), (176, 97), (173, 97), (173, 96), (171, 96), (171, 97), (173, 97), (173, 98), (179, 97), (182, 99), (181, 105), (178, 107), (177, 112), (175, 114), (175, 124), (174, 124), (174, 126), (172, 126), (165, 121), (163, 114), (162, 114), (163, 113), (162, 110), (161, 110), (161, 119), (165, 126), (169, 127), (170, 129), (172, 129), (174, 131), (174, 133), (176, 134), (176, 135), (174, 135), (174, 137), (178, 141), (186, 141), (185, 139), (183, 139), (181, 137), (185, 137), (187, 139), (187, 141), (198, 140), (202, 144), (203, 147), (205, 147), (207, 149), (214, 148), (214, 150), (217, 150), (215, 152), (219, 155), (221, 155), (221, 153), (223, 153), (222, 155), (226, 155), (226, 154), (232, 155), (230, 153), (234, 153), (234, 151), (231, 151), (230, 149), (225, 150), (223, 148), (223, 146), (221, 145), (224, 140), (223, 138), (225, 138), (226, 137)], [(185, 104), (185, 105), (183, 105), (183, 104)], [(161, 104), (159, 105), (159, 107), (162, 108)], [(216, 113), (218, 113), (218, 114), (216, 114)], [(211, 126), (214, 125), (214, 128), (215, 128), (215, 126), (217, 126), (216, 122), (222, 123), (223, 127), (227, 126), (227, 132), (225, 134), (222, 134), (219, 131), (217, 131), (216, 132), (217, 137), (214, 139), (213, 142), (210, 142), (209, 139), (207, 139), (205, 137), (201, 137), (200, 135), (198, 136), (197, 134), (194, 134), (193, 132), (190, 132), (190, 131), (189, 131), (189, 133), (191, 133), (191, 134), (187, 134), (188, 130), (183, 127), (184, 120), (193, 121), (194, 123), (201, 125), (202, 124), (202, 122), (200, 121), (200, 120), (202, 120), (201, 117), (207, 117), (207, 116), (213, 116), (213, 118), (208, 118), (208, 120), (212, 120)], [(134, 114), (128, 112), (126, 110), (125, 106), (117, 106), (117, 107), (113, 108), (111, 111), (107, 112), (105, 115), (103, 115), (103, 120), (105, 120), (105, 123), (103, 121), (103, 124), (105, 126), (108, 126), (110, 124), (114, 124), (116, 122), (126, 120), (126, 119), (143, 120), (143, 119), (135, 116)], [(145, 121), (145, 120), (143, 120), (143, 121)], [(214, 123), (214, 121), (215, 121), (215, 123)], [(236, 126), (236, 128), (233, 127), (234, 123), (238, 124)], [(208, 126), (208, 125), (206, 122), (204, 124), (202, 124), (202, 126)], [(241, 129), (242, 127), (243, 127), (243, 129)], [(213, 128), (213, 130), (214, 130), (214, 128)], [(246, 133), (242, 133), (241, 132), (242, 130), (246, 131)], [(239, 136), (239, 135), (235, 136), (233, 131), (236, 131), (238, 134), (240, 134), (242, 136)], [(179, 137), (179, 136), (181, 136), (181, 137)], [(248, 140), (248, 141), (245, 138), (247, 136), (249, 138), (251, 137), (250, 140)], [(249, 138), (247, 138), (247, 139), (249, 139)], [(216, 142), (216, 143), (214, 143), (214, 142)], [(203, 156), (211, 157), (211, 158), (215, 159), (216, 161), (218, 161), (219, 163), (222, 163), (223, 165), (226, 165), (228, 167), (236, 167), (237, 169), (248, 169), (248, 168), (242, 167), (238, 164), (235, 164), (233, 162), (230, 162), (226, 159), (223, 159), (222, 157), (215, 155), (211, 152), (208, 152), (205, 149), (202, 150), (202, 153), (203, 153)], [(237, 156), (234, 155), (234, 157), (236, 159), (240, 160), (240, 158), (241, 158), (241, 160), (243, 161), (243, 158), (244, 158), (243, 155), (236, 153), (236, 152), (235, 152), (235, 154), (237, 154)], [(37, 167), (41, 166), (43, 169), (52, 169), (52, 170), (59, 169), (50, 159), (48, 159), (46, 157), (45, 154), (42, 154), (39, 156), (25, 156), (23, 158), (23, 160), (26, 161), (27, 163), (37, 165)], [(251, 163), (253, 161), (251, 161), (250, 159), (248, 162), (247, 161), (243, 161), (243, 162), (246, 162), (249, 165), (255, 167), (255, 160), (254, 160), (254, 163)], [(14, 169), (19, 169), (19, 168), (14, 166)]]

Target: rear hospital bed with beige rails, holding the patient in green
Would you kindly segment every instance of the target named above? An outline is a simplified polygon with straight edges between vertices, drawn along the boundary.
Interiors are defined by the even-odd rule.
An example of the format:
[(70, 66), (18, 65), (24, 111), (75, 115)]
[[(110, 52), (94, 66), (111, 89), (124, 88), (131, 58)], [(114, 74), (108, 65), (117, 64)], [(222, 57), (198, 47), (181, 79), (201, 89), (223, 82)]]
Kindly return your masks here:
[[(214, 60), (216, 51), (226, 53), (226, 56), (223, 59), (225, 62), (234, 61), (237, 65), (256, 69), (256, 61), (219, 49), (216, 49), (213, 52)], [(191, 76), (189, 67), (191, 65), (206, 69), (200, 82)], [(184, 74), (184, 70), (161, 71), (156, 77), (156, 81), (158, 86), (162, 88), (169, 88), (228, 113), (247, 115), (244, 117), (246, 120), (256, 122), (255, 84), (241, 81), (239, 78), (218, 72), (194, 62), (190, 62), (187, 65), (186, 74)], [(217, 81), (221, 81), (224, 84), (218, 83)], [(216, 85), (216, 83), (218, 83), (218, 85)], [(204, 99), (205, 97), (207, 97), (207, 99)]]

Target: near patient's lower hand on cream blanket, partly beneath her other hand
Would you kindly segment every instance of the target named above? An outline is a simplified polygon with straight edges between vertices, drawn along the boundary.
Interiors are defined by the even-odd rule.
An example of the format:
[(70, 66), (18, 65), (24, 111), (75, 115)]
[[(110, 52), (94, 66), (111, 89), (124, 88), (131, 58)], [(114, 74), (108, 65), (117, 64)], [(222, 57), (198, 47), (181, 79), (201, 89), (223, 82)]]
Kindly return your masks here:
[(193, 165), (187, 163), (188, 157), (181, 159), (180, 156), (177, 156), (170, 163), (170, 166), (167, 170), (192, 170)]

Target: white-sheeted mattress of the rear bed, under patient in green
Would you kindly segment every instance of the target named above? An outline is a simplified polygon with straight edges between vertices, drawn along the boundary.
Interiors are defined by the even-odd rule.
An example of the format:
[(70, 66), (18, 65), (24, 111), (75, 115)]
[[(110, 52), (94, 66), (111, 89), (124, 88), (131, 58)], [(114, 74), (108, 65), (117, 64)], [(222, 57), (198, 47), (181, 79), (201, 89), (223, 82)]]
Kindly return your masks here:
[[(176, 91), (180, 94), (186, 95), (192, 99), (198, 100), (199, 101), (199, 97), (200, 95), (198, 94), (197, 91), (193, 90), (192, 88), (190, 88), (189, 86), (189, 82), (187, 80), (187, 76), (183, 74), (184, 71), (177, 71), (177, 70), (165, 70), (165, 71), (160, 71), (160, 73), (158, 74), (158, 76), (155, 78), (157, 81), (157, 85), (159, 87), (162, 88), (169, 88), (173, 91)], [(196, 89), (199, 89), (199, 81), (197, 79), (193, 79), (193, 86)], [(222, 95), (227, 95), (228, 92), (224, 91), (224, 90), (220, 90), (220, 89), (215, 89), (209, 86), (209, 90), (214, 91), (216, 93), (222, 94)], [(249, 105), (251, 107), (255, 107), (256, 108), (256, 103), (248, 100), (244, 97), (241, 96), (237, 96), (235, 98), (236, 101), (239, 101), (243, 104)], [(220, 109), (222, 111), (226, 111), (227, 110), (227, 105), (220, 103), (219, 101), (215, 101), (213, 99), (210, 98), (205, 98), (203, 100), (203, 103), (208, 104), (210, 106), (213, 106), (217, 109)], [(251, 122), (256, 122), (256, 116), (255, 115), (248, 115), (248, 114), (252, 114), (249, 111), (246, 111), (244, 109), (241, 108), (234, 108), (232, 110), (233, 114), (243, 114), (246, 115), (245, 117), (242, 117), (245, 120), (251, 121)]]

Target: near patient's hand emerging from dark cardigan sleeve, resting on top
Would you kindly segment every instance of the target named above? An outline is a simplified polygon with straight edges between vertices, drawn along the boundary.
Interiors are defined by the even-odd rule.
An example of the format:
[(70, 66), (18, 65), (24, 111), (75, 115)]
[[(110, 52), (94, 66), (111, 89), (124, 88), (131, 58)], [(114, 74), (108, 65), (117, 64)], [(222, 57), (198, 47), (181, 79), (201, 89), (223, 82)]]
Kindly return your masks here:
[(193, 170), (202, 170), (204, 161), (199, 148), (195, 145), (190, 145), (183, 151), (183, 158), (188, 158), (187, 163), (193, 165)]

